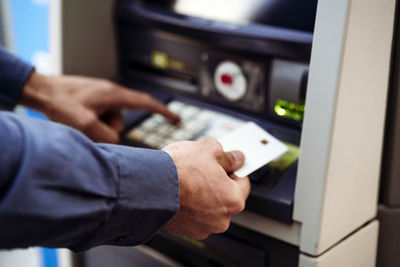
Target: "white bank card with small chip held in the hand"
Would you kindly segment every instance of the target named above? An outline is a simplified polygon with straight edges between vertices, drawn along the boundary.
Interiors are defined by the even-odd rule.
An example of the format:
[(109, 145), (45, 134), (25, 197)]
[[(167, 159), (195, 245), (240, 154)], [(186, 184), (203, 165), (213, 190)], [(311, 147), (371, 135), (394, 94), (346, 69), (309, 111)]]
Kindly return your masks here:
[(244, 153), (243, 166), (234, 172), (237, 177), (245, 177), (270, 161), (282, 156), (287, 146), (270, 135), (254, 122), (248, 122), (218, 141), (225, 152), (239, 150)]

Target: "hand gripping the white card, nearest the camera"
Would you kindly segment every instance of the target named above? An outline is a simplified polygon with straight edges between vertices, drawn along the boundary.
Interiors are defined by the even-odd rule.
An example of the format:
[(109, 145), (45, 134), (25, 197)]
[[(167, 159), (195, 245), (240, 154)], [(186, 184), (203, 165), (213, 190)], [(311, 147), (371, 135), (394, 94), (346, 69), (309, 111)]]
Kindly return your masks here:
[(232, 174), (243, 165), (244, 155), (224, 153), (214, 139), (177, 142), (163, 150), (175, 162), (180, 186), (180, 209), (163, 230), (196, 239), (225, 232), (250, 193), (248, 177)]

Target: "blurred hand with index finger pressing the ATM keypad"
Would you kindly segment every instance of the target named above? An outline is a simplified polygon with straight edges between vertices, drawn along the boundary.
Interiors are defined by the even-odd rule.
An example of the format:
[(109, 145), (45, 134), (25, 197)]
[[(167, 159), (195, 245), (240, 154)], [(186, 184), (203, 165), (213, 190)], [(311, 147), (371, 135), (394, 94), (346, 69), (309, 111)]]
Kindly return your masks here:
[(152, 96), (96, 78), (33, 72), (20, 103), (43, 112), (50, 120), (82, 131), (95, 142), (119, 142), (125, 108), (148, 110), (171, 122), (179, 121), (177, 115)]

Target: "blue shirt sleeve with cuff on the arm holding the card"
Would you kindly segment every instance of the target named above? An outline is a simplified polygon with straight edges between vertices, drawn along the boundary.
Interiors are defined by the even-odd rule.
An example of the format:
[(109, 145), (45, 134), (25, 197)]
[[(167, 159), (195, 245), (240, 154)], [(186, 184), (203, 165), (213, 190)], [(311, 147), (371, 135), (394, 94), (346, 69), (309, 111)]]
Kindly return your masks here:
[(178, 208), (167, 153), (0, 112), (0, 248), (136, 245)]

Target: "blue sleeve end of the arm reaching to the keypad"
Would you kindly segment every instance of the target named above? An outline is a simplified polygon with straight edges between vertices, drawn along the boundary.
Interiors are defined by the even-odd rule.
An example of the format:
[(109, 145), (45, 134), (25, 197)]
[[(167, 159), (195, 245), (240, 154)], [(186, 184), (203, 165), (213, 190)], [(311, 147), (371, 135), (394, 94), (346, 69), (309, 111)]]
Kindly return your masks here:
[(0, 109), (11, 110), (15, 107), (32, 70), (31, 65), (0, 47)]

